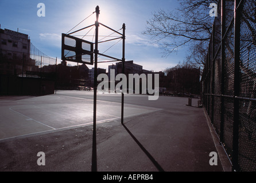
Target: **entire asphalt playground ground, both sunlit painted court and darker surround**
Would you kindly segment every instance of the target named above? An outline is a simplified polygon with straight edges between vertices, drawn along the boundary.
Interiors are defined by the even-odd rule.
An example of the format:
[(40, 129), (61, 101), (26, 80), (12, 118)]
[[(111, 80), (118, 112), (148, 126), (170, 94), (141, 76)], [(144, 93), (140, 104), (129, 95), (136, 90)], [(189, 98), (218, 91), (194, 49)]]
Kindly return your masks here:
[[(90, 172), (93, 98), (86, 91), (0, 97), (0, 171)], [(197, 100), (125, 94), (121, 125), (121, 95), (97, 94), (98, 171), (223, 171), (226, 154)], [(36, 164), (38, 152), (46, 166)], [(210, 152), (218, 152), (218, 166)]]

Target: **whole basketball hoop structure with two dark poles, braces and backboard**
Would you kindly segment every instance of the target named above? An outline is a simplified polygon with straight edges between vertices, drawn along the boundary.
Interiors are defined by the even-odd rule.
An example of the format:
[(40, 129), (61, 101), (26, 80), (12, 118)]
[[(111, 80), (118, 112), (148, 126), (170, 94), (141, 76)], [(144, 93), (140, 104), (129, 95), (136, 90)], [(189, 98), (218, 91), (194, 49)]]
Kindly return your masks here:
[[(73, 31), (72, 33), (69, 33), (69, 34), (63, 34), (62, 43), (61, 43), (61, 45), (62, 45), (61, 46), (61, 59), (63, 59), (63, 61), (65, 60), (65, 61), (72, 61), (72, 62), (79, 62), (79, 63), (86, 63), (86, 64), (94, 65), (94, 118), (93, 118), (92, 166), (91, 166), (92, 172), (97, 171), (97, 158), (96, 158), (97, 157), (96, 156), (96, 154), (97, 154), (96, 153), (97, 152), (97, 149), (96, 149), (96, 104), (97, 104), (97, 102), (96, 102), (96, 100), (97, 100), (97, 83), (98, 83), (97, 77), (98, 77), (98, 63), (102, 63), (102, 62), (98, 62), (98, 55), (101, 55), (103, 57), (107, 57), (107, 58), (110, 58), (110, 59), (114, 59), (115, 61), (113, 61), (113, 62), (122, 61), (122, 74), (125, 74), (125, 29), (126, 29), (125, 23), (123, 23), (123, 26), (122, 26), (123, 33), (119, 33), (118, 31), (116, 31), (114, 29), (111, 29), (110, 27), (108, 27), (106, 25), (103, 25), (102, 23), (99, 23), (99, 21), (98, 21), (99, 14), (100, 14), (99, 6), (96, 6), (96, 9), (95, 9), (94, 13), (96, 13), (96, 21), (95, 21), (94, 25), (84, 27), (83, 29)], [(119, 38), (123, 39), (122, 40), (123, 41), (123, 43), (122, 43), (122, 59), (111, 57), (111, 56), (103, 54), (103, 53), (99, 53), (99, 51), (98, 51), (98, 44), (99, 43), (119, 39), (119, 38), (114, 38), (114, 39), (108, 39), (106, 41), (99, 42), (98, 41), (99, 25), (102, 25), (102, 26), (106, 27), (107, 29), (110, 29), (111, 31), (114, 31), (115, 33), (118, 33), (118, 34), (121, 35), (121, 37), (119, 37)], [(73, 37), (71, 35), (73, 33), (77, 33), (80, 30), (87, 29), (88, 27), (91, 27), (91, 26), (95, 26), (95, 43), (88, 42), (88, 41), (85, 41), (83, 39)], [(75, 39), (76, 45), (73, 46), (73, 47), (65, 45), (64, 37)], [(91, 45), (91, 50), (90, 51), (82, 49), (81, 45), (82, 45), (83, 42), (84, 43), (89, 43)], [(95, 49), (93, 49), (94, 45), (95, 45)], [(73, 57), (78, 56), (78, 58), (80, 58), (80, 55), (83, 55), (83, 54), (90, 55), (91, 56), (90, 62), (83, 62), (82, 60), (73, 59), (72, 57), (65, 57), (65, 55), (64, 55), (64, 50), (65, 49), (70, 50), (70, 51), (74, 51), (76, 53), (76, 55), (73, 55)], [(107, 62), (110, 62), (110, 61), (107, 61)], [(121, 124), (122, 125), (123, 125), (123, 118), (124, 118), (124, 94), (122, 93), (122, 104), (121, 104)]]

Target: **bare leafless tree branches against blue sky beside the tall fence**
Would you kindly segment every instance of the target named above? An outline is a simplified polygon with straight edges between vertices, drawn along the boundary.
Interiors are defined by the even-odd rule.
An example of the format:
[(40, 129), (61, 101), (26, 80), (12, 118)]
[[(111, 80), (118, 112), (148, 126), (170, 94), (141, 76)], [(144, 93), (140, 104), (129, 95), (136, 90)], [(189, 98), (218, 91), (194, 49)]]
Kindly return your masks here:
[[(173, 11), (159, 10), (147, 21), (143, 34), (150, 35), (163, 51), (163, 56), (189, 46), (189, 63), (203, 67), (205, 49), (211, 38), (212, 23), (210, 4), (218, 0), (179, 0), (180, 6)], [(206, 47), (205, 47), (206, 46)], [(206, 51), (207, 52), (207, 51)]]

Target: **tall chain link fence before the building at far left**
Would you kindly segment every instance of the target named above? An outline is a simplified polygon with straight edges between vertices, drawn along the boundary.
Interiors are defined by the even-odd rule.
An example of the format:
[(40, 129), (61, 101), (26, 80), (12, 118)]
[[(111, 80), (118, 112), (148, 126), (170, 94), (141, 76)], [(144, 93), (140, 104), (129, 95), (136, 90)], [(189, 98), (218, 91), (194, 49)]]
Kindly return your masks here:
[(32, 43), (24, 52), (1, 48), (0, 94), (52, 94), (56, 88), (56, 63), (57, 58), (41, 53)]

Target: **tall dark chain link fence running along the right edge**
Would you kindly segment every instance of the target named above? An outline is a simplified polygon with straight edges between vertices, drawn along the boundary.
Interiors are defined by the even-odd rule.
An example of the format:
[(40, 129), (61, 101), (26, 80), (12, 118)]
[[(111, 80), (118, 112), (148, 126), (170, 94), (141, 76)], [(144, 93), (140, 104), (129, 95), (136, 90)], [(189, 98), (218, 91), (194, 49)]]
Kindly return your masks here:
[(221, 0), (202, 100), (235, 171), (256, 171), (256, 1)]

